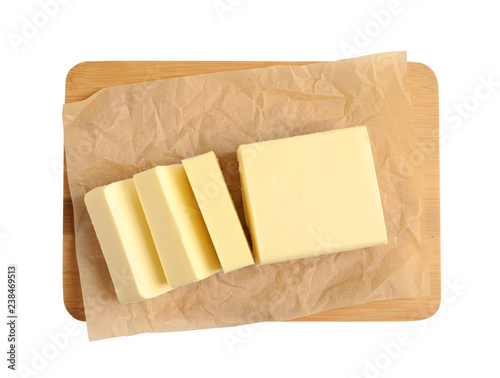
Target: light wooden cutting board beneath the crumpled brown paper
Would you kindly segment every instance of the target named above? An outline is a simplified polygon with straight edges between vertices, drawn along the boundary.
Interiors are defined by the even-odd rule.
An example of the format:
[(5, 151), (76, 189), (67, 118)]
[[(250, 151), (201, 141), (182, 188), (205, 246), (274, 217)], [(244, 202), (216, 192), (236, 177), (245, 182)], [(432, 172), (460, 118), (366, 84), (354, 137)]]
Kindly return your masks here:
[[(98, 90), (122, 84), (189, 76), (217, 71), (268, 67), (276, 64), (303, 65), (314, 62), (84, 62), (73, 67), (66, 78), (66, 102), (86, 99)], [(432, 316), (441, 301), (441, 242), (439, 193), (439, 104), (438, 84), (433, 71), (421, 63), (408, 63), (408, 89), (419, 150), (416, 161), (424, 169), (424, 220), (430, 255), (431, 296), (378, 301), (345, 307), (296, 320), (307, 321), (394, 321), (420, 320)], [(80, 276), (75, 252), (73, 205), (64, 165), (63, 213), (64, 304), (78, 320), (85, 320)]]

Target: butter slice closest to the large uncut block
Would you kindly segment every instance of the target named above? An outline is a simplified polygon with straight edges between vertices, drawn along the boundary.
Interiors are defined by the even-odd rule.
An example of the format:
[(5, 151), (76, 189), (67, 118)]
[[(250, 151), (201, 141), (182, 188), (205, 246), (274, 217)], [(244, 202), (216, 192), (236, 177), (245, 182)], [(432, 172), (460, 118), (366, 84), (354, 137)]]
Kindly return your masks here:
[(182, 161), (225, 273), (254, 263), (233, 200), (213, 152)]

